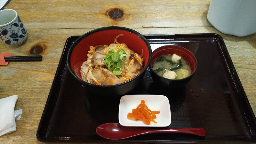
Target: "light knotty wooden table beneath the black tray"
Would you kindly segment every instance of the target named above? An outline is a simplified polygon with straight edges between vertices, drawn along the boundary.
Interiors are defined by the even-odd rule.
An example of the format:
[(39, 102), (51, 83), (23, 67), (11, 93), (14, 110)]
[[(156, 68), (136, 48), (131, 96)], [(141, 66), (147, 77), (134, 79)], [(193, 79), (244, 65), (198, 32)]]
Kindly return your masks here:
[[(23, 108), (21, 119), (16, 120), (17, 131), (1, 136), (0, 143), (39, 143), (37, 126), (66, 39), (105, 26), (132, 28), (141, 34), (220, 34), (255, 113), (256, 34), (236, 37), (220, 33), (207, 21), (209, 5), (210, 0), (11, 0), (4, 9), (18, 12), (28, 39), (19, 46), (1, 42), (0, 53), (24, 56), (41, 52), (43, 60), (0, 66), (0, 98), (17, 94), (15, 109)], [(123, 16), (112, 19), (111, 10), (123, 11)]]

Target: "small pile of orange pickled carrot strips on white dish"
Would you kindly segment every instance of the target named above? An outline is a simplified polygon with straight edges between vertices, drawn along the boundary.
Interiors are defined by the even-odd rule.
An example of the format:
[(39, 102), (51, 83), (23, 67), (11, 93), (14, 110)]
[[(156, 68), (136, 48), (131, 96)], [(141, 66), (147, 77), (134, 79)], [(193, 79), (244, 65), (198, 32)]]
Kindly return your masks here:
[(136, 121), (142, 120), (145, 124), (150, 124), (150, 122), (157, 123), (154, 119), (156, 119), (156, 114), (159, 114), (160, 111), (150, 110), (145, 104), (145, 100), (141, 100), (140, 102), (137, 108), (132, 109), (132, 113), (127, 114), (127, 117)]

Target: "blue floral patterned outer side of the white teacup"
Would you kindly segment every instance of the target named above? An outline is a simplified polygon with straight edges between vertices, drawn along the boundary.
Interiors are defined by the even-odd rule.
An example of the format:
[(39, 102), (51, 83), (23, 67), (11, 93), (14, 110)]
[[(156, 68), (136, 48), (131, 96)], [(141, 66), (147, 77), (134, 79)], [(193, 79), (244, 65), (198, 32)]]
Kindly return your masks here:
[(21, 44), (27, 39), (27, 30), (19, 16), (11, 24), (0, 27), (0, 38), (10, 45)]

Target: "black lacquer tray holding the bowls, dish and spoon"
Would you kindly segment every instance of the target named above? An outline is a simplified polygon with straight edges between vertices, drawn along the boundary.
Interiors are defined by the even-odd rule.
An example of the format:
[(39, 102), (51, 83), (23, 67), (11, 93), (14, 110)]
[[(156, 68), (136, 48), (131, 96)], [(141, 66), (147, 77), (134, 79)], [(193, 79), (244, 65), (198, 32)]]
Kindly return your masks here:
[(79, 36), (67, 39), (53, 80), (36, 137), (42, 142), (256, 142), (256, 121), (227, 48), (217, 34), (145, 35), (152, 50), (179, 45), (190, 50), (198, 66), (190, 82), (179, 89), (165, 89), (153, 82), (149, 69), (127, 94), (159, 94), (171, 105), (170, 128), (202, 127), (205, 137), (187, 134), (151, 134), (125, 140), (107, 140), (95, 129), (118, 123), (121, 96), (99, 97), (68, 71), (66, 57)]

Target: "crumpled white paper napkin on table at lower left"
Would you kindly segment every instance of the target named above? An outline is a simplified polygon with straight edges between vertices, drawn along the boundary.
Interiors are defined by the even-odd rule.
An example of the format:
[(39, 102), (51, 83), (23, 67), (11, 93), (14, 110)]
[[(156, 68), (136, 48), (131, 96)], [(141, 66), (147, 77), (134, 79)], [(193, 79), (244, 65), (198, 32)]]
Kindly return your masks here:
[(16, 131), (14, 106), (17, 99), (18, 95), (0, 99), (0, 136)]

